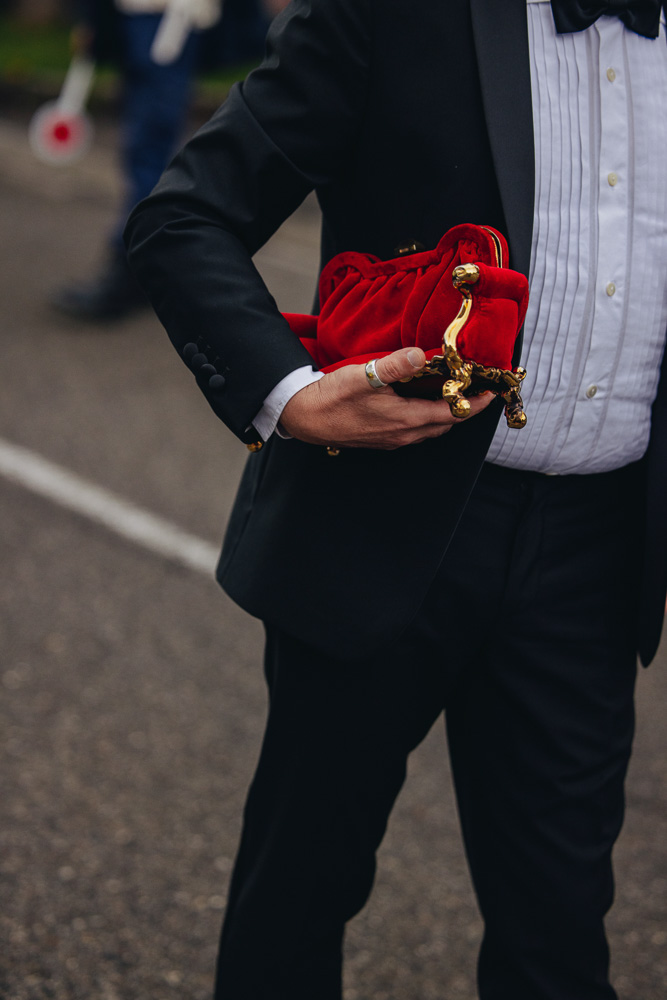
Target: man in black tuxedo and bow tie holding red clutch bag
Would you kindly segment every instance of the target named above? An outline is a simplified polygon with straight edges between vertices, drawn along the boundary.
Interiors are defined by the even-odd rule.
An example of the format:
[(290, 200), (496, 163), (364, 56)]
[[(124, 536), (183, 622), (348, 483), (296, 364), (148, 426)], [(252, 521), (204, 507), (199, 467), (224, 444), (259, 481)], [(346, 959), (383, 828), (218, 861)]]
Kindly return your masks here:
[[(639, 25), (631, 11), (623, 24), (605, 16), (589, 27), (594, 17), (582, 21), (574, 3), (559, 16), (576, 23), (561, 23), (558, 38), (599, 29), (600, 51), (629, 44), (633, 58), (646, 63), (650, 52), (660, 69), (659, 5), (648, 0), (648, 28), (639, 6)], [(251, 260), (315, 189), (323, 261), (343, 250), (391, 257), (406, 238), (432, 247), (451, 226), (478, 222), (508, 235), (511, 266), (531, 270), (542, 288), (535, 298), (533, 286), (534, 300), (546, 301), (545, 277), (559, 279), (556, 249), (540, 257), (533, 232), (534, 205), (538, 222), (542, 209), (549, 215), (533, 133), (549, 95), (540, 97), (535, 67), (549, 46), (570, 45), (546, 7), (295, 0), (274, 23), (263, 65), (129, 223), (132, 266), (172, 342), (214, 412), (254, 451), (218, 578), (266, 624), (270, 712), (230, 888), (219, 1000), (339, 1000), (344, 924), (370, 892), (407, 755), (443, 708), (485, 920), (480, 997), (615, 997), (603, 927), (611, 849), (636, 654), (648, 663), (655, 653), (667, 588), (663, 307), (647, 347), (650, 384), (639, 392), (648, 446), (615, 450), (614, 430), (600, 465), (605, 427), (630, 405), (601, 381), (598, 402), (609, 395), (612, 409), (596, 425), (599, 444), (585, 451), (588, 425), (578, 437), (575, 424), (570, 457), (538, 440), (530, 461), (505, 461), (513, 445), (497, 443), (499, 408), (486, 396), (457, 421), (442, 403), (371, 388), (363, 366), (314, 381)], [(572, 58), (592, 58), (590, 45), (577, 51)], [(609, 66), (610, 86), (614, 77)], [(559, 85), (574, 106), (567, 80)], [(631, 107), (639, 135), (641, 101)], [(584, 141), (594, 129), (579, 131)], [(622, 194), (624, 174), (608, 177)], [(561, 208), (568, 202), (557, 218)], [(617, 217), (612, 224), (618, 230)], [(667, 250), (662, 229), (654, 235), (660, 266), (649, 294), (662, 303)], [(625, 293), (639, 299), (631, 282), (610, 282), (601, 261), (573, 302), (593, 301), (600, 280), (614, 306)], [(586, 336), (583, 320), (565, 313), (556, 325), (574, 345), (562, 348), (567, 372), (568, 359), (595, 354), (597, 327), (595, 310), (585, 313)], [(623, 316), (617, 361), (631, 313)], [(539, 308), (529, 314), (526, 348), (542, 344), (544, 354), (551, 320), (540, 317)], [(377, 372), (389, 384), (422, 361), (406, 349)], [(566, 378), (556, 375), (556, 386)], [(597, 393), (593, 385), (585, 395)], [(568, 419), (575, 404), (578, 389)], [(529, 421), (548, 422), (554, 406), (536, 402), (535, 415), (528, 406)], [(332, 444), (337, 458), (323, 447)], [(500, 457), (485, 463), (490, 445)]]

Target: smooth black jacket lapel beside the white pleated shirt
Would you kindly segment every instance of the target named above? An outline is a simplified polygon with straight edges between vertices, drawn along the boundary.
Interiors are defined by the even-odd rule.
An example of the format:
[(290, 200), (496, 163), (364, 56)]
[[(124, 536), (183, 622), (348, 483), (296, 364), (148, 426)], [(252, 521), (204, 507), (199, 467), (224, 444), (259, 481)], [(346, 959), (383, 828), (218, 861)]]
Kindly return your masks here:
[(526, 0), (470, 0), (470, 8), (510, 266), (528, 274), (535, 153)]

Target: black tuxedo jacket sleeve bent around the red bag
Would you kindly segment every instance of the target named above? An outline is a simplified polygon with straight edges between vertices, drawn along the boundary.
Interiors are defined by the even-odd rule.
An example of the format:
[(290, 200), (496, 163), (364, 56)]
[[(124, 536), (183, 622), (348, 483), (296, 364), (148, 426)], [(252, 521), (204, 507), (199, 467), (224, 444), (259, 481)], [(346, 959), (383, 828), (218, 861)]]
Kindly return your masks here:
[(215, 413), (246, 443), (311, 363), (252, 255), (344, 169), (364, 114), (371, 0), (294, 0), (262, 65), (175, 157), (126, 229), (130, 265)]

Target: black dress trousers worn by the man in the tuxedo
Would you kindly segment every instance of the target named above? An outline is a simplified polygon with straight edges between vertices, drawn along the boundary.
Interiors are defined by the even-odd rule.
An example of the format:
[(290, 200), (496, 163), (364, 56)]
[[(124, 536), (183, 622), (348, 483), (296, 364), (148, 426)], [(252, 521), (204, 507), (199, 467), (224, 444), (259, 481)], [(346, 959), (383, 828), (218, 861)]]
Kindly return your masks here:
[[(340, 1000), (345, 922), (443, 709), (485, 922), (480, 997), (613, 1000), (603, 918), (634, 723), (640, 484), (637, 467), (486, 466), (400, 642), (351, 663), (268, 632), (217, 1000)], [(437, 526), (397, 530), (419, 558)]]

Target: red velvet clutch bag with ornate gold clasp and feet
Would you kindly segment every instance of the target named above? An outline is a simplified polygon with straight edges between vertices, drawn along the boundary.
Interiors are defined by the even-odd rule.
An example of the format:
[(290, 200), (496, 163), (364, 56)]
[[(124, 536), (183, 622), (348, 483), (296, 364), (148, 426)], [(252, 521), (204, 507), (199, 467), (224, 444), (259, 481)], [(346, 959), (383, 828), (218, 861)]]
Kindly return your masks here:
[(345, 252), (319, 284), (319, 316), (285, 314), (324, 372), (363, 364), (401, 347), (421, 347), (427, 366), (402, 395), (444, 398), (465, 417), (466, 396), (490, 389), (505, 400), (510, 427), (526, 422), (512, 369), (514, 342), (528, 305), (528, 282), (507, 266), (505, 238), (488, 226), (455, 226), (434, 250), (415, 245), (392, 260)]

